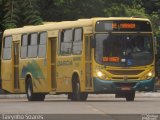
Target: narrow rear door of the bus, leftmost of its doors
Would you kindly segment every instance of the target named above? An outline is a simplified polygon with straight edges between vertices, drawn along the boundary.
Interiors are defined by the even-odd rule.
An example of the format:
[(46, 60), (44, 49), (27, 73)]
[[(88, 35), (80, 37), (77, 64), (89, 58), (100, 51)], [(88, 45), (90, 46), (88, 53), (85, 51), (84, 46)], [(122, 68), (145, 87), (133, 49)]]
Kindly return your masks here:
[(19, 90), (19, 43), (13, 43), (14, 49), (14, 90)]

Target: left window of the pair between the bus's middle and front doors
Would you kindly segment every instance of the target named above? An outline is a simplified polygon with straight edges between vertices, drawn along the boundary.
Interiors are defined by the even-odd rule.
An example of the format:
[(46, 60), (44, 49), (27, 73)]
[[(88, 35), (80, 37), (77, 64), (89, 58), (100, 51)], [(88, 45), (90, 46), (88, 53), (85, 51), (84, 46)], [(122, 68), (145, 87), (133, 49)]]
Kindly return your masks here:
[(73, 31), (72, 29), (63, 30), (61, 32), (61, 41), (60, 41), (60, 54), (69, 55), (72, 51), (72, 38)]

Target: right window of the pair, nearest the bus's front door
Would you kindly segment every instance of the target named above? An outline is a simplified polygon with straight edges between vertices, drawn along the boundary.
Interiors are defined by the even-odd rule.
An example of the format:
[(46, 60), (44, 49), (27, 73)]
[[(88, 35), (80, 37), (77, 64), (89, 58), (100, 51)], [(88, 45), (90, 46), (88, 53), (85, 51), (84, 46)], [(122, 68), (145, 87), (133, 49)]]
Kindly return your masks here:
[(82, 53), (82, 28), (75, 29), (73, 41), (73, 54)]

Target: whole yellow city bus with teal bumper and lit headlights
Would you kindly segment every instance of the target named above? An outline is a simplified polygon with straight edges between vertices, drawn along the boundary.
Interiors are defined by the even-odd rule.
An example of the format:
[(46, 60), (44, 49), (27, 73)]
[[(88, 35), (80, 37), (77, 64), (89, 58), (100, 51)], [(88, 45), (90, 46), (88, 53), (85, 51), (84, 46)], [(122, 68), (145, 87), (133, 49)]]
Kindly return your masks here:
[(51, 22), (6, 30), (2, 44), (2, 89), (26, 93), (29, 101), (67, 94), (115, 94), (134, 101), (153, 91), (155, 50), (151, 23), (134, 17)]

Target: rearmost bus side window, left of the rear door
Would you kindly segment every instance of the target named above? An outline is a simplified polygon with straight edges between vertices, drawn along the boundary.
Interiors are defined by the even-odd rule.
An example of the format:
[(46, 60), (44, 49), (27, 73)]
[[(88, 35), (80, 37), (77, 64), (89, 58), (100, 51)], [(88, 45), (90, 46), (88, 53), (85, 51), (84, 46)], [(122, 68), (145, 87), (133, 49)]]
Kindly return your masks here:
[(8, 36), (4, 38), (3, 43), (3, 59), (9, 60), (11, 59), (11, 49), (12, 49), (12, 37)]

